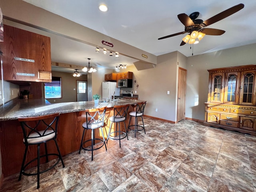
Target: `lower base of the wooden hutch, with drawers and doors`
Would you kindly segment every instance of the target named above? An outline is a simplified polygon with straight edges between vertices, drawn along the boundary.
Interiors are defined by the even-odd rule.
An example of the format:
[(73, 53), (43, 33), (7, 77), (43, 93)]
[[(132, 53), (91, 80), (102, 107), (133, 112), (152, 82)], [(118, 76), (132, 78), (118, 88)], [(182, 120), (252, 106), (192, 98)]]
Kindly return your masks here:
[(206, 104), (204, 124), (256, 136), (256, 108)]

